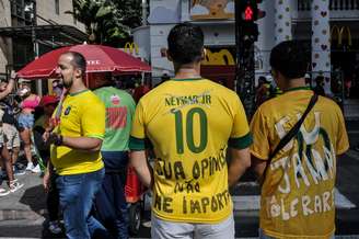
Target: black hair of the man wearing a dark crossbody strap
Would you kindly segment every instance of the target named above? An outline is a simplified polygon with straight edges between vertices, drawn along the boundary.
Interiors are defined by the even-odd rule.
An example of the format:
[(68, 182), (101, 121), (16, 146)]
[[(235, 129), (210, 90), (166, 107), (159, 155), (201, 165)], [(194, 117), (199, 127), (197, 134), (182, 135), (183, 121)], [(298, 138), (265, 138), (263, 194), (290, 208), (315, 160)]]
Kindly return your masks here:
[(305, 76), (308, 59), (308, 53), (298, 41), (286, 41), (271, 49), (269, 62), (274, 70), (290, 80)]

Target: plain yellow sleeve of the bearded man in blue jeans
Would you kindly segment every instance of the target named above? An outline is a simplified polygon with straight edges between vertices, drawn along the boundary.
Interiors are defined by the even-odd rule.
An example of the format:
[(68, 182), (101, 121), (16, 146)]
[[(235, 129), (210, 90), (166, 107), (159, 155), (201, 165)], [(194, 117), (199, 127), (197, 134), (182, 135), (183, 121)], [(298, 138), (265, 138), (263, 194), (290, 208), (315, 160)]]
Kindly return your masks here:
[(104, 139), (105, 122), (106, 122), (105, 105), (99, 101), (89, 103), (81, 116), (81, 130), (83, 136), (91, 138)]

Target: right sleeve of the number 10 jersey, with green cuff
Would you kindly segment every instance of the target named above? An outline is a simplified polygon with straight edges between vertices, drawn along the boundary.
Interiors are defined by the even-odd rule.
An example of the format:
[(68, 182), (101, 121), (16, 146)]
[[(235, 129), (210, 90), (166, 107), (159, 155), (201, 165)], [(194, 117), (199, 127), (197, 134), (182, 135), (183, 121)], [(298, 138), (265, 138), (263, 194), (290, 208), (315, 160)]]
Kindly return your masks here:
[(234, 121), (228, 145), (231, 148), (244, 149), (250, 147), (252, 141), (252, 135), (250, 133), (244, 107), (240, 99), (236, 96), (234, 103)]

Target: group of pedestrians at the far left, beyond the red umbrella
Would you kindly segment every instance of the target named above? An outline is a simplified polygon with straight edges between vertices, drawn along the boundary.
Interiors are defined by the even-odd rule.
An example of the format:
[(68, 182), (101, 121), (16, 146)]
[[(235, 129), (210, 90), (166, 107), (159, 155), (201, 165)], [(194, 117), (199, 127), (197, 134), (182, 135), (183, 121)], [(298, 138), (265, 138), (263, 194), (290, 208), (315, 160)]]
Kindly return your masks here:
[[(12, 94), (15, 86), (18, 90)], [(40, 98), (31, 91), (30, 82), (16, 78), (11, 72), (9, 81), (0, 82), (0, 144), (1, 144), (1, 178), (8, 181), (8, 189), (0, 189), (0, 196), (16, 192), (24, 184), (14, 177), (25, 171), (39, 173), (33, 146), (33, 127), (35, 110), (42, 109)], [(22, 143), (22, 144), (21, 144)], [(25, 167), (19, 162), (20, 148), (23, 148), (26, 159)], [(22, 170), (24, 168), (24, 170)]]

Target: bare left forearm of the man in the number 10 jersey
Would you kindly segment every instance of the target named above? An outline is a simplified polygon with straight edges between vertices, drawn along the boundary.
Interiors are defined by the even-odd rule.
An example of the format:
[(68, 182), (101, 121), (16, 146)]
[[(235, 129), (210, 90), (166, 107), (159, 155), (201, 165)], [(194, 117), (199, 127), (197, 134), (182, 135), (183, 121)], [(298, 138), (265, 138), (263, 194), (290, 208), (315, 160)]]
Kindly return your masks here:
[(131, 151), (130, 163), (135, 168), (143, 185), (151, 189), (153, 183), (153, 170), (147, 161), (146, 151)]

